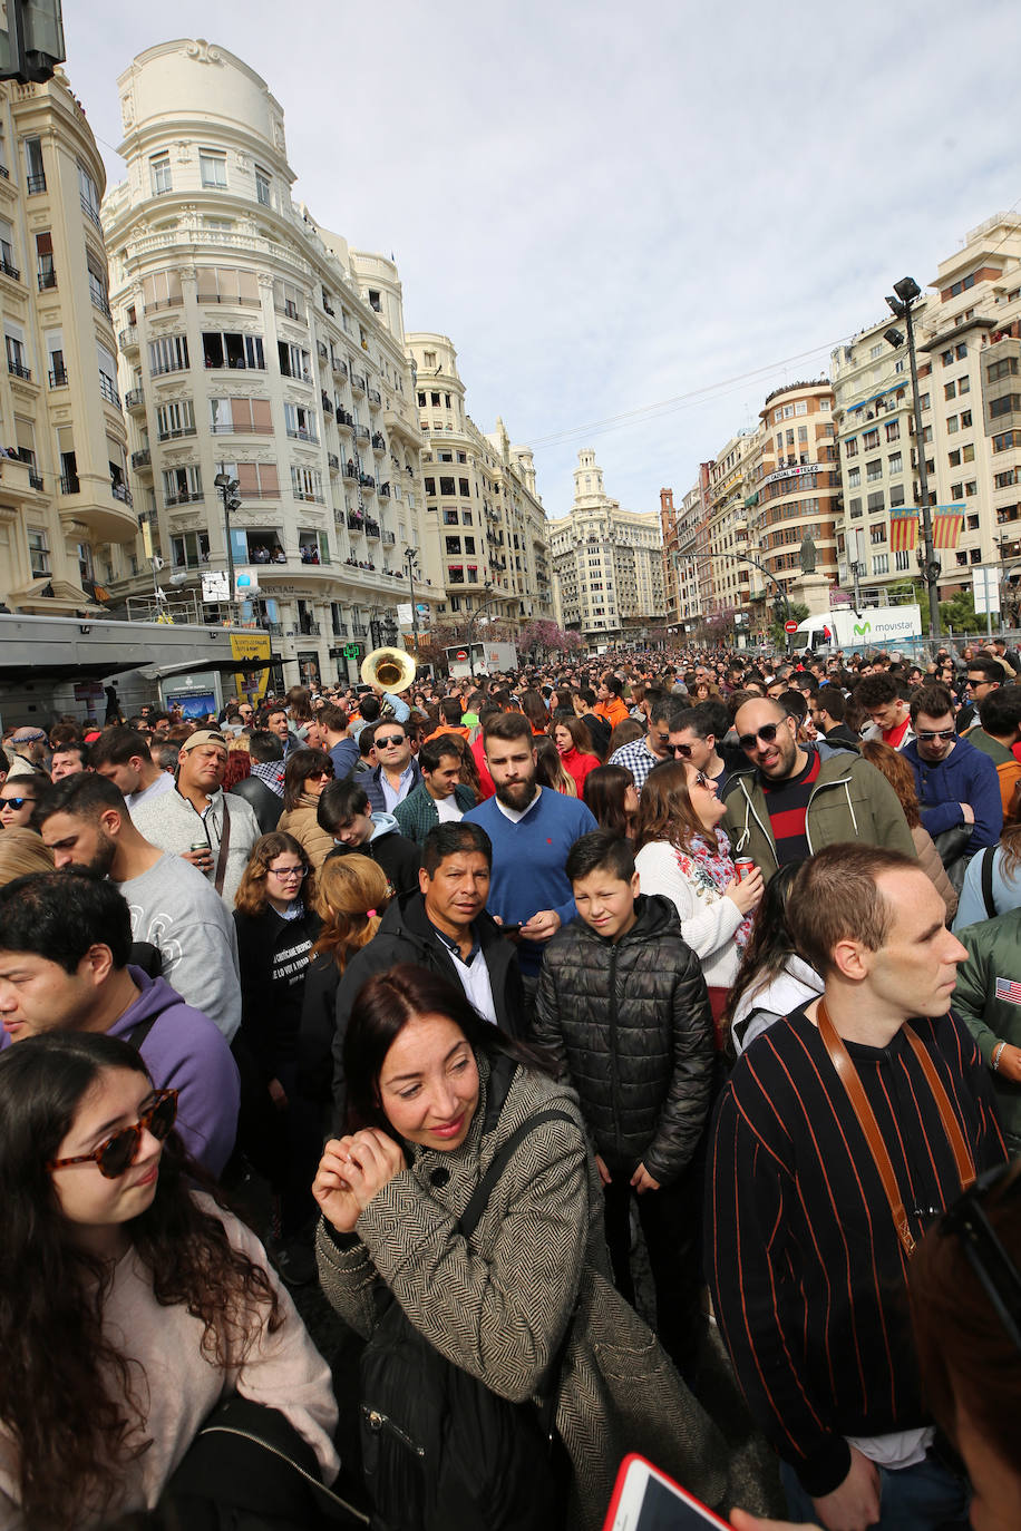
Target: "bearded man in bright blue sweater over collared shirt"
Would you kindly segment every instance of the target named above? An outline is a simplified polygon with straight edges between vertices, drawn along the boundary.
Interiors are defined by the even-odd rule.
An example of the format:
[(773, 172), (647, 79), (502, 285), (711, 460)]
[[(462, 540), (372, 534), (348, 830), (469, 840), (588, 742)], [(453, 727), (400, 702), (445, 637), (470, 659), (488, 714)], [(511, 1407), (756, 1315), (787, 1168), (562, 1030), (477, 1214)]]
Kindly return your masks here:
[(517, 957), (528, 1001), (534, 1000), (546, 942), (574, 919), (565, 863), (582, 834), (599, 828), (577, 798), (536, 782), (531, 724), (522, 712), (501, 712), (482, 730), (494, 796), (464, 816), (493, 842), (488, 909), (502, 925), (520, 926)]

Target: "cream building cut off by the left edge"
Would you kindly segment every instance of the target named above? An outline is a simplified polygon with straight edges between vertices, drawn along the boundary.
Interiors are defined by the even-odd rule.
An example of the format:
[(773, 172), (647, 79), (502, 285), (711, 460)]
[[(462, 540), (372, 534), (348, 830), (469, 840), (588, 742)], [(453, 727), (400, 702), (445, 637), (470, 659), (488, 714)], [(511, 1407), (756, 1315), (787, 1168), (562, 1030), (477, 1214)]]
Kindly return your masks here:
[(0, 600), (28, 614), (98, 612), (138, 530), (104, 187), (63, 70), (0, 86)]

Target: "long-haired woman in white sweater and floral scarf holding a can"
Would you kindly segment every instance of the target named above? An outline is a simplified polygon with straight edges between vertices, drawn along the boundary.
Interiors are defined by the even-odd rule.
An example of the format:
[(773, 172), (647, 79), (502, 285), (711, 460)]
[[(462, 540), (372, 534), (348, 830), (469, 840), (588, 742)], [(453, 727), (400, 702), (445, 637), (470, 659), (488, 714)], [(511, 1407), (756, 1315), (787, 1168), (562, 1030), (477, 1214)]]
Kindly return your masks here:
[(719, 828), (724, 811), (704, 772), (664, 761), (646, 778), (635, 827), (641, 891), (663, 893), (677, 906), (684, 940), (701, 957), (716, 1027), (762, 897), (758, 867), (744, 879), (735, 874), (730, 841)]

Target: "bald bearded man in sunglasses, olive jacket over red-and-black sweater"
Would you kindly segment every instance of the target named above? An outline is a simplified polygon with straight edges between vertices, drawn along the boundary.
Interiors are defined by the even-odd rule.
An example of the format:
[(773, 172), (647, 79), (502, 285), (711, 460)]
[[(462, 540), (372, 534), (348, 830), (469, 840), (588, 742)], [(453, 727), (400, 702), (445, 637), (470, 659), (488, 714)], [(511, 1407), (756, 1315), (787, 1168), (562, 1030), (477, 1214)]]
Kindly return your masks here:
[(730, 778), (723, 827), (733, 854), (750, 856), (767, 882), (787, 862), (850, 841), (914, 859), (897, 793), (860, 755), (824, 739), (799, 744), (796, 720), (768, 697), (744, 701), (733, 726), (747, 767)]

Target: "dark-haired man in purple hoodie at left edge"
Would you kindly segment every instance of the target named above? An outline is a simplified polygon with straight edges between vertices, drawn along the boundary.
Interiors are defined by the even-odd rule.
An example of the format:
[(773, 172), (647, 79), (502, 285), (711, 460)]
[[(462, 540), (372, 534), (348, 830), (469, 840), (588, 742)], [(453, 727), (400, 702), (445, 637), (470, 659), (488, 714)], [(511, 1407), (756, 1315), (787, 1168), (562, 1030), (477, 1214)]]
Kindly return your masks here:
[(106, 1032), (178, 1090), (178, 1131), (219, 1176), (234, 1147), (239, 1079), (230, 1046), (165, 978), (129, 966), (132, 917), (113, 883), (70, 868), (0, 888), (0, 1049), (40, 1032)]

